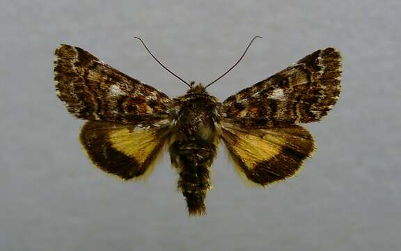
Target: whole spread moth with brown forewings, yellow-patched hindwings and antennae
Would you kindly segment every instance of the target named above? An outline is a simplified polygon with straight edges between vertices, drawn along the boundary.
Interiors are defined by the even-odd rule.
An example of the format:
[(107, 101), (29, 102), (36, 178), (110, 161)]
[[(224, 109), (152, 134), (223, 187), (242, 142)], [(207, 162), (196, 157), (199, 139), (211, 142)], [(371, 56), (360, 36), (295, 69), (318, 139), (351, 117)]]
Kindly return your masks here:
[(221, 140), (249, 181), (265, 186), (285, 180), (315, 149), (313, 136), (298, 124), (320, 121), (340, 94), (341, 56), (331, 47), (223, 102), (207, 92), (210, 84), (184, 82), (157, 59), (189, 86), (185, 95), (168, 98), (79, 47), (60, 45), (55, 55), (57, 96), (86, 120), (80, 140), (93, 164), (123, 180), (139, 178), (166, 146), (189, 215), (205, 214)]

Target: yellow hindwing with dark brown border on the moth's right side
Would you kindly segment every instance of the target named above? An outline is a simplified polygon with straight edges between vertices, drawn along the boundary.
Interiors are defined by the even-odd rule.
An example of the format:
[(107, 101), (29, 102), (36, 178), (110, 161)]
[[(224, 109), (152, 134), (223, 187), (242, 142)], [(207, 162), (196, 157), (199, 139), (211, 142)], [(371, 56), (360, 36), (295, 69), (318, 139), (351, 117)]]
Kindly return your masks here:
[(244, 129), (223, 123), (221, 137), (240, 174), (260, 185), (293, 176), (314, 150), (301, 126)]

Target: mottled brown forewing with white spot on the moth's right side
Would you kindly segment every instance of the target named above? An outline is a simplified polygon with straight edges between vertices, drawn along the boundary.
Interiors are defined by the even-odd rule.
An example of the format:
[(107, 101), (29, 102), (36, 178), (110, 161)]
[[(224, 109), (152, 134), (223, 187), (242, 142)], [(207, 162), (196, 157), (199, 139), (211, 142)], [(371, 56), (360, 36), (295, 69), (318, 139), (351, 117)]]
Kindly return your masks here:
[(340, 76), (340, 53), (334, 48), (317, 50), (227, 98), (221, 115), (248, 126), (320, 121), (337, 102)]

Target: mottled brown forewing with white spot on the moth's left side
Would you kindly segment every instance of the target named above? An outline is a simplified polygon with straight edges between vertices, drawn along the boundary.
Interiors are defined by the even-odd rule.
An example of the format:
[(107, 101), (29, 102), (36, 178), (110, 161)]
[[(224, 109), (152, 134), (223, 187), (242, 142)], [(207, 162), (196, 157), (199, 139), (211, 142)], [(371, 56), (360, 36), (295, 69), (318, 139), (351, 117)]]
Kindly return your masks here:
[(60, 45), (55, 54), (57, 96), (77, 118), (125, 123), (161, 118), (168, 111), (166, 94), (81, 48)]

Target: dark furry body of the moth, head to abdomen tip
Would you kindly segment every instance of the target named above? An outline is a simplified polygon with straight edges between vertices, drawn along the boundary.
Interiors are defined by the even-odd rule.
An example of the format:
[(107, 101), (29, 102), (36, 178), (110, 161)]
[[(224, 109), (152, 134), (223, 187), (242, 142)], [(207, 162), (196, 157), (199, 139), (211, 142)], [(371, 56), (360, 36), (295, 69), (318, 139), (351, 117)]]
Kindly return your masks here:
[(204, 214), (204, 199), (210, 189), (210, 167), (220, 139), (219, 102), (201, 84), (173, 100), (169, 152), (178, 170), (178, 189), (187, 201), (189, 213)]

